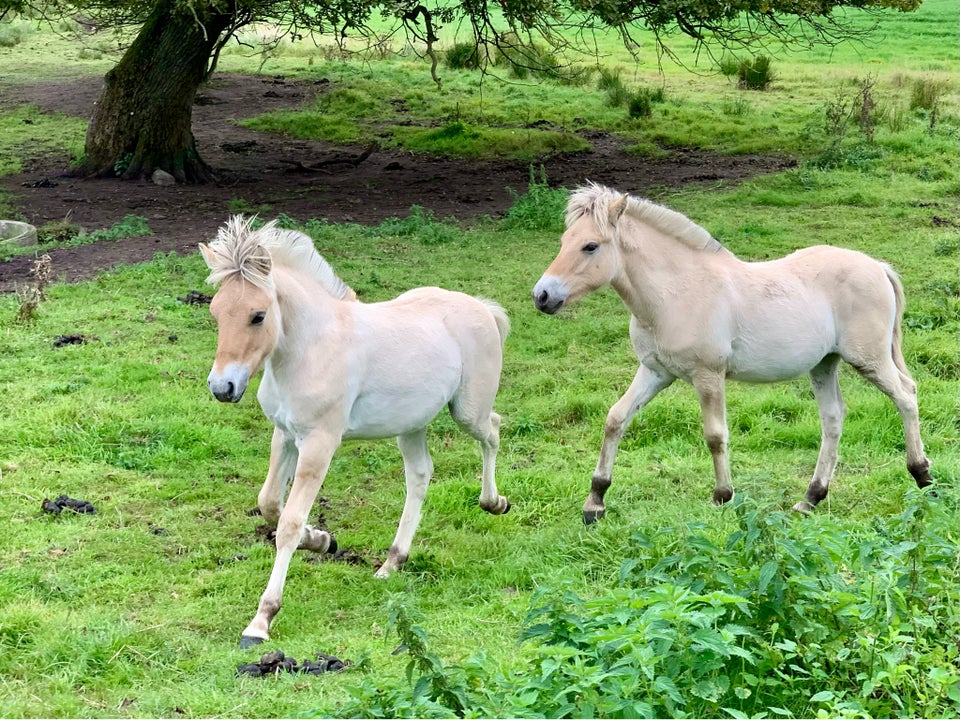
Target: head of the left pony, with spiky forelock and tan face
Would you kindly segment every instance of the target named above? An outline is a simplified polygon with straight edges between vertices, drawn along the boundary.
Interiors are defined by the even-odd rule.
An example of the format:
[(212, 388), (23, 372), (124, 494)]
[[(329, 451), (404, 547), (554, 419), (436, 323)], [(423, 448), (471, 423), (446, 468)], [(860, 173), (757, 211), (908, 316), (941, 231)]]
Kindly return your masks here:
[(210, 302), (218, 336), (207, 386), (221, 402), (239, 402), (281, 332), (273, 260), (264, 244), (277, 231), (272, 222), (254, 230), (253, 220), (234, 215), (216, 240), (200, 244), (210, 268), (207, 282), (220, 285)]

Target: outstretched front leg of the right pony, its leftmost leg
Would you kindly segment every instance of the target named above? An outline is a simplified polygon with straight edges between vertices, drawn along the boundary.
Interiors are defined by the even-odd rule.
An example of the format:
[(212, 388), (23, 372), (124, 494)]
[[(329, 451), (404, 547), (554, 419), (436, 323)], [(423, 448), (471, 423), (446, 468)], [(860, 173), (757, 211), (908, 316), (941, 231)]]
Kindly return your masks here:
[(593, 471), (590, 494), (583, 504), (583, 522), (585, 524), (595, 523), (606, 512), (603, 497), (612, 482), (613, 461), (617, 457), (620, 440), (630, 425), (630, 421), (644, 405), (674, 380), (675, 378), (672, 375), (657, 372), (641, 364), (633, 382), (627, 388), (627, 392), (610, 408), (607, 413), (607, 421), (603, 427), (603, 445), (600, 447), (597, 467)]

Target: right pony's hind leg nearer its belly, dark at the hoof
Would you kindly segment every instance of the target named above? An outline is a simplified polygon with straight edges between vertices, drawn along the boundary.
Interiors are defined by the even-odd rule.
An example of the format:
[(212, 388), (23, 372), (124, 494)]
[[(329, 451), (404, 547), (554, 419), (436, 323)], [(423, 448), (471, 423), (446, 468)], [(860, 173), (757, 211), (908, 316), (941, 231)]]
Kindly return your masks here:
[(820, 455), (804, 499), (793, 506), (797, 512), (810, 512), (827, 496), (830, 480), (837, 468), (837, 447), (847, 412), (837, 379), (839, 364), (839, 355), (828, 355), (810, 371), (810, 384), (820, 412)]

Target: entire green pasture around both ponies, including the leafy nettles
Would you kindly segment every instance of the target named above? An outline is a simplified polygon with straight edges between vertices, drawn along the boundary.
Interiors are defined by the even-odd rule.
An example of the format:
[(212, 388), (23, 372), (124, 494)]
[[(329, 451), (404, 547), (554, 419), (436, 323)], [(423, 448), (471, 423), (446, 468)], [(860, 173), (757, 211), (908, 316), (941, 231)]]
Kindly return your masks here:
[[(54, 52), (32, 54), (12, 76), (49, 77), (62, 58), (78, 75), (109, 67), (106, 55), (49, 42)], [(222, 66), (253, 72), (261, 59), (228, 54)], [(632, 86), (664, 88), (666, 102), (640, 120), (596, 84), (488, 79), (480, 107), (468, 71), (446, 71), (437, 93), (422, 65), (404, 58), (289, 50), (266, 60), (264, 72), (341, 83), (341, 102), (321, 109), (352, 118), (346, 139), (360, 142), (374, 121), (395, 119), (364, 100), (386, 81), (411, 88), (416, 117), (459, 121), (480, 138), (487, 128), (517, 132), (501, 125), (518, 116), (572, 126), (565, 108), (577, 102), (588, 126), (634, 142), (638, 163), (674, 144), (795, 156), (783, 172), (663, 188), (654, 199), (743, 259), (825, 243), (896, 268), (936, 495), (918, 491), (906, 470), (892, 403), (844, 367), (840, 463), (811, 516), (789, 511), (820, 442), (806, 378), (728, 385), (737, 497), (723, 507), (710, 501), (696, 397), (676, 383), (627, 431), (606, 516), (584, 526), (604, 418), (636, 360), (613, 292), (556, 317), (533, 306), (533, 284), (558, 250), (565, 192), (534, 172), (504, 218), (411, 212), (371, 227), (285, 217), (364, 302), (439, 285), (503, 305), (512, 332), (495, 405), (497, 484), (510, 512), (477, 505), (476, 443), (441, 414), (428, 433), (434, 478), (410, 558), (376, 579), (403, 506), (402, 460), (393, 441), (345, 444), (310, 515), (343, 552), (298, 552), (271, 639), (240, 650), (274, 559), (261, 518), (248, 512), (271, 428), (257, 379), (236, 405), (206, 387), (215, 324), (205, 305), (179, 299), (211, 292), (200, 254), (54, 283), (29, 321), (18, 321), (15, 294), (0, 296), (4, 716), (956, 715), (960, 103), (951, 1), (885, 17), (872, 47), (778, 55), (778, 79), (763, 93), (668, 61), (658, 74), (655, 63), (611, 56)], [(883, 112), (868, 126), (850, 109), (869, 79)], [(930, 88), (935, 102), (914, 104)], [(76, 119), (36, 120), (31, 152), (82, 148)], [(289, 118), (259, 127), (281, 120), (302, 131)], [(0, 172), (18, 171), (23, 126), (23, 116), (0, 114)], [(409, 141), (404, 132), (397, 143)], [(7, 197), (0, 207), (16, 211)], [(68, 335), (84, 342), (55, 344)], [(60, 494), (96, 513), (41, 510)], [(352, 664), (320, 676), (238, 676), (270, 650)]]

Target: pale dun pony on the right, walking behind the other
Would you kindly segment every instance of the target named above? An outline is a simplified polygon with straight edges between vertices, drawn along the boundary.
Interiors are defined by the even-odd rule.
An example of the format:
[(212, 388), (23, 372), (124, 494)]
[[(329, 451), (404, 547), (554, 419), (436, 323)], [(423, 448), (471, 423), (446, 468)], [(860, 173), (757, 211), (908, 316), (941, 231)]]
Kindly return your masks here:
[(770, 262), (744, 262), (683, 215), (599, 185), (575, 191), (560, 253), (533, 289), (553, 314), (610, 284), (632, 313), (640, 369), (610, 408), (584, 522), (603, 516), (617, 447), (630, 420), (677, 378), (700, 400), (713, 456), (713, 500), (733, 497), (724, 383), (774, 382), (809, 373), (822, 437), (813, 479), (794, 509), (827, 495), (845, 414), (841, 360), (893, 400), (903, 418), (907, 467), (932, 482), (923, 452), (916, 384), (900, 350), (903, 288), (894, 271), (862, 253), (818, 245)]

